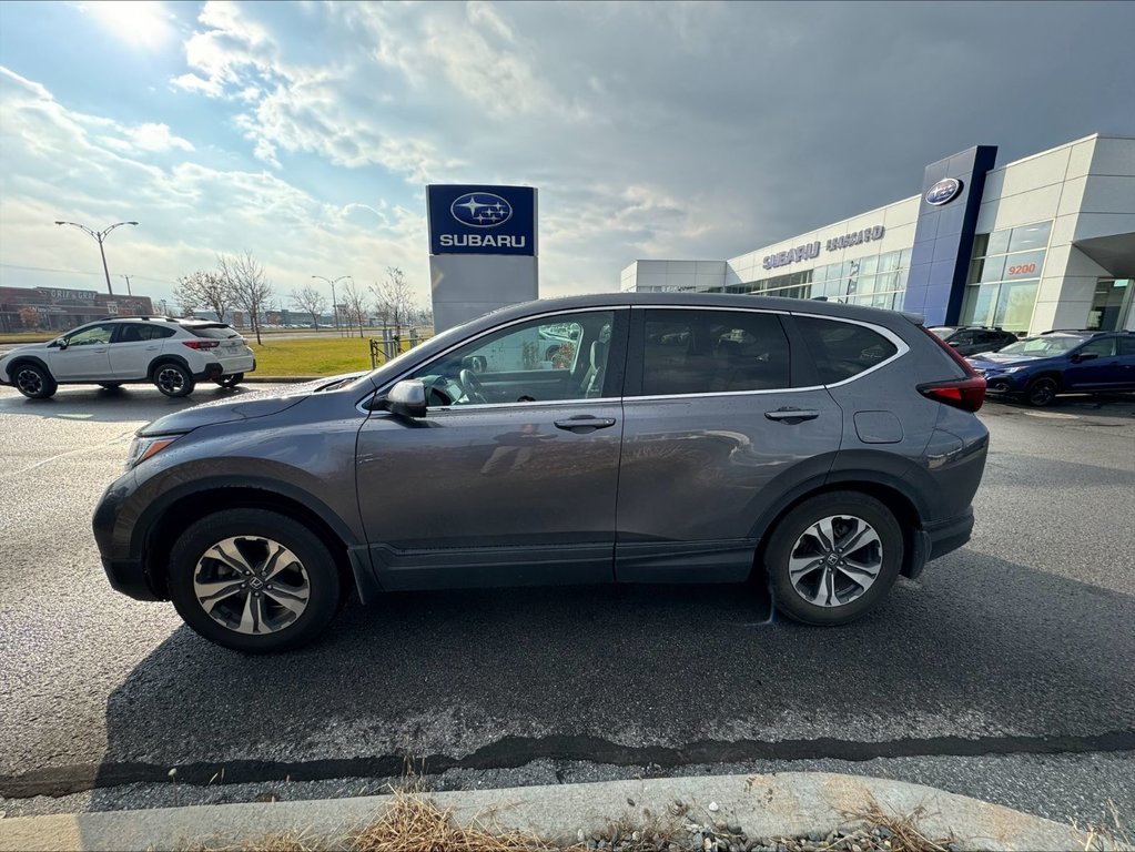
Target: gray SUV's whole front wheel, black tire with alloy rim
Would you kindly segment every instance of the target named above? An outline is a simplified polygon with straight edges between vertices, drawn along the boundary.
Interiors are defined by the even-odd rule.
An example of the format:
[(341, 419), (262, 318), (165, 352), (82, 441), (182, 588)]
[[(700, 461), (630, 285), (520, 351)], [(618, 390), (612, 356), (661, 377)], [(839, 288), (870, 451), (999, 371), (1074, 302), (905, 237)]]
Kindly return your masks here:
[[(234, 589), (242, 582), (241, 572), (235, 571), (230, 562), (210, 558), (209, 554), (216, 552), (215, 546), (229, 539), (239, 541), (244, 548), (238, 550), (226, 545), (229, 558), (243, 555), (243, 563), (253, 570), (253, 573), (243, 575), (250, 577), (245, 585), (259, 580), (264, 591), (245, 591), (244, 587)], [(302, 593), (288, 594), (283, 593), (280, 588), (276, 589), (279, 600), (300, 601), (302, 594), (306, 594), (299, 615), (289, 615), (291, 609), (281, 606), (267, 591), (272, 585), (266, 580), (269, 575), (263, 570), (270, 568), (271, 563), (269, 560), (264, 566), (260, 556), (267, 558), (274, 551), (272, 545), (286, 548), (295, 557), (288, 567), (276, 575), (277, 582), (286, 575), (292, 577), (293, 582), (285, 582), (280, 588), (294, 591), (299, 588), (297, 579), (305, 582)], [(258, 574), (258, 571), (263, 573)], [(226, 588), (226, 591), (232, 590), (228, 597), (217, 598), (215, 615), (205, 611), (204, 604), (199, 600), (195, 579), (200, 582), (233, 583)], [(169, 592), (178, 615), (210, 642), (245, 653), (286, 651), (312, 642), (338, 610), (342, 597), (339, 585), (335, 558), (320, 538), (293, 518), (266, 509), (234, 509), (203, 517), (182, 534), (169, 556)], [(261, 607), (259, 618), (252, 615), (257, 607)], [(242, 632), (244, 618), (250, 619), (254, 632)], [(269, 624), (270, 621), (277, 624)]]

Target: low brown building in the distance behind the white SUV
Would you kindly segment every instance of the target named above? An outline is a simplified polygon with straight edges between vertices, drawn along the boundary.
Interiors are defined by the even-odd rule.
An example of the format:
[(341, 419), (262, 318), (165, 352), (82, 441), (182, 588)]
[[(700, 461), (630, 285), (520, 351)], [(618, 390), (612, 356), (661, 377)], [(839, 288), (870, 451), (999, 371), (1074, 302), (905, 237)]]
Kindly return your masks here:
[(67, 331), (104, 317), (152, 317), (149, 296), (60, 287), (0, 287), (0, 331)]

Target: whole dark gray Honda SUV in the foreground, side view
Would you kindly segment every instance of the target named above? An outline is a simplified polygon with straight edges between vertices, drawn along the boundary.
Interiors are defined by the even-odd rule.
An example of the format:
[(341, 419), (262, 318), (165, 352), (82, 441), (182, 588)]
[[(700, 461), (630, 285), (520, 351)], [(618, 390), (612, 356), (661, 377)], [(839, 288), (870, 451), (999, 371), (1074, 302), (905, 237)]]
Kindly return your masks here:
[(94, 534), (115, 589), (242, 651), (311, 641), (352, 590), (759, 576), (843, 624), (969, 539), (984, 394), (908, 314), (532, 302), (150, 423)]

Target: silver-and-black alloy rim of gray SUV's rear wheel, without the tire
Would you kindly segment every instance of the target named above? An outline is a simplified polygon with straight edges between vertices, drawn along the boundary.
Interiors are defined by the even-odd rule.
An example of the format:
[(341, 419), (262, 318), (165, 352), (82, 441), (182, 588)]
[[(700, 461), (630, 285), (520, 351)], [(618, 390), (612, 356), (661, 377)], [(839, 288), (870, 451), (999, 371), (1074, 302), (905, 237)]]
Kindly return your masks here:
[(807, 602), (839, 607), (866, 592), (882, 567), (883, 543), (875, 528), (854, 515), (830, 515), (796, 540), (789, 580)]

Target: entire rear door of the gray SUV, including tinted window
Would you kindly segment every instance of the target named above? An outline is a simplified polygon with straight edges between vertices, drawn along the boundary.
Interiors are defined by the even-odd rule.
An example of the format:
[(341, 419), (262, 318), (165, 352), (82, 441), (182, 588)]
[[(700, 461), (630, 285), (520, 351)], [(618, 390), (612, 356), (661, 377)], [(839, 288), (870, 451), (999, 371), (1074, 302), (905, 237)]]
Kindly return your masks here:
[(757, 520), (831, 469), (842, 411), (823, 388), (789, 387), (775, 314), (632, 313), (616, 577), (743, 580)]

